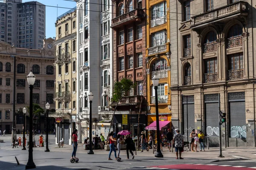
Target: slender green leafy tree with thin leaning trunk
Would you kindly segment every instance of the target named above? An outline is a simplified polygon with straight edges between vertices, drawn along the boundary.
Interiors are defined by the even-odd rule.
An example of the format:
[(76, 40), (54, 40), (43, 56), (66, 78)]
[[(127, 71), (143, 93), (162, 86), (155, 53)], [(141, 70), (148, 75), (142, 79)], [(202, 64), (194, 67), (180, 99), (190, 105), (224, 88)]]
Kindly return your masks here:
[[(111, 123), (110, 123), (110, 129), (112, 127), (113, 118), (114, 118), (116, 108), (117, 108), (119, 102), (121, 101), (121, 99), (123, 97), (127, 96), (129, 91), (131, 90), (131, 88), (134, 88), (135, 86), (136, 86), (135, 83), (133, 83), (130, 79), (126, 79), (126, 78), (123, 78), (123, 79), (121, 79), (121, 81), (114, 83), (112, 102), (116, 102), (116, 107), (114, 108), (114, 113), (113, 113)], [(109, 138), (110, 129), (108, 131), (108, 138)], [(107, 141), (108, 141), (108, 138), (107, 138)]]

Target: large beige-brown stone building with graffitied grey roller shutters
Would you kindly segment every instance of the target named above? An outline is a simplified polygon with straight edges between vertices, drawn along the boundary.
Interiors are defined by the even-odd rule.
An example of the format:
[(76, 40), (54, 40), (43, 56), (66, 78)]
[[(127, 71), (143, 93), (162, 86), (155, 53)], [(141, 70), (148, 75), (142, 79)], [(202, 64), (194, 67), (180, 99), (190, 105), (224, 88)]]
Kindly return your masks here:
[[(256, 4), (207, 2), (170, 0), (172, 124), (186, 141), (195, 128), (210, 146), (220, 132), (228, 147), (255, 146)], [(221, 130), (219, 111), (227, 113)]]

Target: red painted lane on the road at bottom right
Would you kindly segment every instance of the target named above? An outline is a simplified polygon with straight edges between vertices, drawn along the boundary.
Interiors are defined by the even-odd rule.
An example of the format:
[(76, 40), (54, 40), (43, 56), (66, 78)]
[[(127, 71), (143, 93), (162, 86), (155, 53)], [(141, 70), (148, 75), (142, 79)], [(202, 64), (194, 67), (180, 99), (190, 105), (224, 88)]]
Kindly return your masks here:
[(176, 164), (152, 166), (156, 168), (168, 168), (170, 170), (252, 170), (247, 167), (225, 167), (218, 165)]

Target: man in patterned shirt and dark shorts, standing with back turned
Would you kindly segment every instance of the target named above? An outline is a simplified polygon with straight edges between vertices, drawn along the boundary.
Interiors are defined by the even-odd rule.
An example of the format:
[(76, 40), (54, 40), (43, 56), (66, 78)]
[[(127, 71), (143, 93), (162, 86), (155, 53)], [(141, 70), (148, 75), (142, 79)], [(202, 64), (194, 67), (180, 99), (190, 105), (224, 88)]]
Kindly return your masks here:
[(180, 134), (180, 129), (175, 129), (176, 134), (173, 137), (172, 144), (175, 145), (175, 152), (176, 152), (176, 159), (178, 158), (178, 153), (180, 154), (180, 159), (183, 159), (181, 157), (181, 153), (183, 152), (183, 147), (184, 147), (184, 140), (183, 140), (183, 135)]

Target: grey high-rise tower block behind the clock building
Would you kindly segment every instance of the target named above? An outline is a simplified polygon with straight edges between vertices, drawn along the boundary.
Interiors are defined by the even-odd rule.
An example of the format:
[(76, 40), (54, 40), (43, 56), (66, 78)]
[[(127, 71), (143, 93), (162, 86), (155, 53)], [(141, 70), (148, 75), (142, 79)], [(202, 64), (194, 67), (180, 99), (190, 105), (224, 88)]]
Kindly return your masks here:
[(0, 40), (19, 48), (41, 49), (45, 38), (45, 6), (37, 1), (0, 3)]

